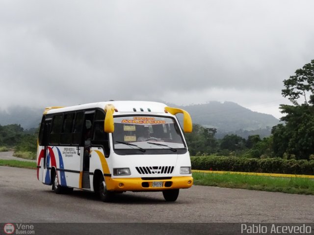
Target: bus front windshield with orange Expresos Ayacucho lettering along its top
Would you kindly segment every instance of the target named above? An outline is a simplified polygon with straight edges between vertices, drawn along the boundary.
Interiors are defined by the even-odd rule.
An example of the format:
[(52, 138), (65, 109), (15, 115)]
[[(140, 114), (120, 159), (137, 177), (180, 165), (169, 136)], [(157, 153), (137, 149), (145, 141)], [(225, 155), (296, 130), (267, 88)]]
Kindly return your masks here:
[(185, 148), (175, 119), (169, 117), (127, 116), (114, 118), (115, 149), (176, 149)]

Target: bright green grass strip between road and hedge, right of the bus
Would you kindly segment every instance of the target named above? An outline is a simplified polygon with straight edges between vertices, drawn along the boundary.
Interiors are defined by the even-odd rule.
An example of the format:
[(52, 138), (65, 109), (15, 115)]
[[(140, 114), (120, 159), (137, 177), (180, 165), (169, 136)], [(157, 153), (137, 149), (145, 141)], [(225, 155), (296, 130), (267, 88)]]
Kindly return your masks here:
[(307, 178), (279, 178), (197, 172), (193, 173), (193, 178), (194, 185), (314, 195), (314, 180)]

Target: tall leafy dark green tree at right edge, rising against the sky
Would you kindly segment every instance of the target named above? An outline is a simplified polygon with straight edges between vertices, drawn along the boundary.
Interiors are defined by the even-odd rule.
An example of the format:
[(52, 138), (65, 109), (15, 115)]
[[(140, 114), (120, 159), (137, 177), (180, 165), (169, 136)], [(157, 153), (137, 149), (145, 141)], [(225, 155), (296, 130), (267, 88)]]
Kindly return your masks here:
[[(293, 105), (280, 105), (281, 120), (286, 125), (273, 128), (274, 153), (283, 157), (295, 156), (296, 159), (309, 159), (314, 154), (314, 60), (295, 71), (295, 75), (284, 80), (284, 97)], [(303, 97), (304, 102), (299, 103)]]

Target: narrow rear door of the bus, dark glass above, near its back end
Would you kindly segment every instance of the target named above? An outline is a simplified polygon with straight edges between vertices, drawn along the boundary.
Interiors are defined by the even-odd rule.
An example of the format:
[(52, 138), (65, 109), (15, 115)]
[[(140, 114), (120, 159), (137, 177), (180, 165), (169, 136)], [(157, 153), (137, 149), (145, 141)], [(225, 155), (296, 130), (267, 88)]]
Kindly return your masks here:
[(43, 136), (42, 136), (42, 146), (44, 147), (43, 149), (43, 154), (42, 158), (43, 160), (40, 163), (40, 170), (39, 170), (39, 180), (45, 184), (51, 184), (51, 179), (50, 179), (50, 171), (48, 169), (49, 167), (49, 151), (48, 151), (48, 145), (49, 145), (49, 135), (51, 132), (51, 125), (52, 125), (52, 118), (48, 118), (45, 120), (43, 123)]

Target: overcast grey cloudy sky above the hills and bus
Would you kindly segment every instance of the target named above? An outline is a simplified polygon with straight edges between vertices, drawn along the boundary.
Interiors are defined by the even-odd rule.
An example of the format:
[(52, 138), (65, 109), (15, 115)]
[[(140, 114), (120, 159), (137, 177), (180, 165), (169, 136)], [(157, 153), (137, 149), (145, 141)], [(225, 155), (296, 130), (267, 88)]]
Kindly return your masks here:
[(233, 101), (281, 117), (313, 0), (1, 0), (0, 109)]

